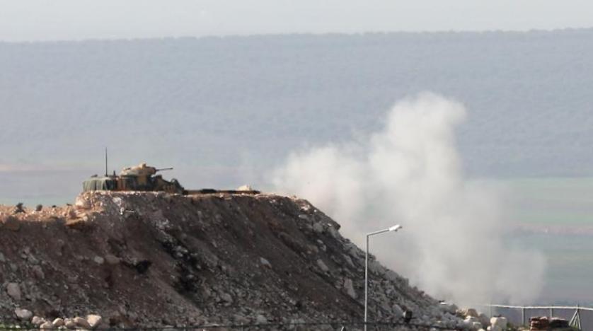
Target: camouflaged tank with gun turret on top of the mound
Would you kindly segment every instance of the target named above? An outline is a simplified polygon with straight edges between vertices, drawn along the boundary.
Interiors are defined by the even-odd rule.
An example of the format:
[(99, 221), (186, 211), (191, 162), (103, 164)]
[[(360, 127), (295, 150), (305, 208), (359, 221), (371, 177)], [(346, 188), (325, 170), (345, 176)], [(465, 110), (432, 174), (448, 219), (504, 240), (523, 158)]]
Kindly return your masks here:
[(163, 191), (185, 194), (185, 189), (175, 178), (164, 180), (159, 171), (173, 168), (155, 168), (146, 163), (134, 167), (123, 168), (120, 175), (92, 176), (82, 184), (83, 192), (87, 191)]

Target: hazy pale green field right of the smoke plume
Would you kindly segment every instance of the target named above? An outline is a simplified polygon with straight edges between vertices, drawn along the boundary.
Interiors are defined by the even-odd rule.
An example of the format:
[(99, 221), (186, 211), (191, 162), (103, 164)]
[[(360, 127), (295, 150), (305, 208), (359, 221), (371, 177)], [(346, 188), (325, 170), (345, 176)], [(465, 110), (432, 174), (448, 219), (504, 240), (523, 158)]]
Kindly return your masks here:
[(497, 185), (504, 190), (507, 217), (533, 230), (509, 240), (546, 255), (539, 303), (593, 303), (593, 178), (522, 178)]

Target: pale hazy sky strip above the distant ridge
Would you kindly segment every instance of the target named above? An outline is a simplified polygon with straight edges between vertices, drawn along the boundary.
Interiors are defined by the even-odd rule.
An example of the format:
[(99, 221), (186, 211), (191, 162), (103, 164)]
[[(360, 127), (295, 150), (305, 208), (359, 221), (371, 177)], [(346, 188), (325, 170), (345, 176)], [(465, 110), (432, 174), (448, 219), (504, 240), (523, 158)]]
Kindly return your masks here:
[(0, 0), (0, 40), (590, 28), (587, 0)]

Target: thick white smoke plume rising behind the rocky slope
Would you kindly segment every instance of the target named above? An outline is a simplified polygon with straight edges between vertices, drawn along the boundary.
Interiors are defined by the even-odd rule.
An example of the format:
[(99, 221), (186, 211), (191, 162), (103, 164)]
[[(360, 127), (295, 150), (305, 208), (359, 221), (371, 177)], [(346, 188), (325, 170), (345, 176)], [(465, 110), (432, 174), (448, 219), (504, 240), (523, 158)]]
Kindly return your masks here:
[(292, 153), (272, 176), (277, 192), (309, 199), (364, 249), (436, 298), (458, 304), (528, 303), (545, 260), (505, 247), (498, 192), (464, 178), (454, 129), (460, 103), (424, 93), (388, 112), (384, 129), (350, 144)]

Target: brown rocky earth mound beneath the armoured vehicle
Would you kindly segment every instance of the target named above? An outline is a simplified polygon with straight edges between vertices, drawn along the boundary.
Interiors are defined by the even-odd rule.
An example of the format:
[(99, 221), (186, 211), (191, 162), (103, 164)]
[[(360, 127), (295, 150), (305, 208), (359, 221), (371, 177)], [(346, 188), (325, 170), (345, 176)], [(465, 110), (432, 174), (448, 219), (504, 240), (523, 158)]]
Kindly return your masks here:
[[(16, 312), (36, 323), (93, 314), (105, 326), (363, 318), (364, 252), (303, 199), (93, 192), (14, 209), (0, 207), (4, 323)], [(460, 323), (396, 272), (369, 269), (370, 320), (407, 308), (418, 323)]]

